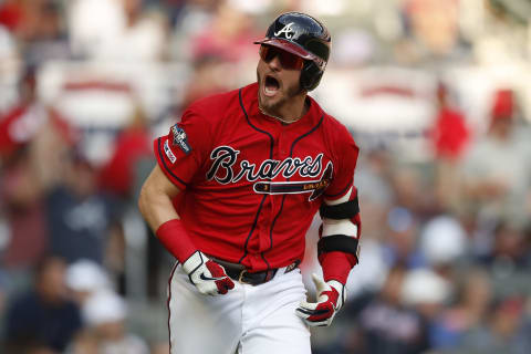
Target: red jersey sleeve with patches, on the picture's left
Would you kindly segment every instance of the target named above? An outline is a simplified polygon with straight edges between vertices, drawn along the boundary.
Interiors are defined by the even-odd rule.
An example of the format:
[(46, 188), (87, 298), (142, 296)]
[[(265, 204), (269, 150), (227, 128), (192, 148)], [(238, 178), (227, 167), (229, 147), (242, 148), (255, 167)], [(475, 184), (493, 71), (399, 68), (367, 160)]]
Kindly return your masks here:
[(206, 118), (189, 107), (181, 122), (170, 127), (168, 135), (154, 140), (158, 166), (166, 177), (184, 190), (211, 149), (211, 128)]

